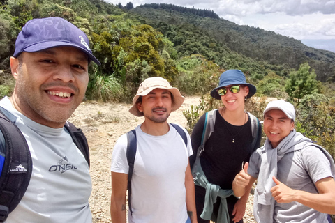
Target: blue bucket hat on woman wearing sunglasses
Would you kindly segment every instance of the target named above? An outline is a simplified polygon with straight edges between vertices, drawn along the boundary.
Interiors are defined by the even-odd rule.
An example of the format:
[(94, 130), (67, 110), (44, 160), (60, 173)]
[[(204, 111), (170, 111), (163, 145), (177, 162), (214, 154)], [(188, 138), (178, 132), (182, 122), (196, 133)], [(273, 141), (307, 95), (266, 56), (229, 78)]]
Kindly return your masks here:
[(220, 76), (220, 81), (218, 82), (218, 87), (211, 91), (211, 97), (221, 100), (221, 96), (218, 95), (218, 89), (222, 89), (224, 86), (242, 84), (249, 87), (249, 93), (246, 98), (250, 98), (256, 93), (256, 87), (253, 84), (246, 83), (246, 76), (241, 70), (226, 70)]

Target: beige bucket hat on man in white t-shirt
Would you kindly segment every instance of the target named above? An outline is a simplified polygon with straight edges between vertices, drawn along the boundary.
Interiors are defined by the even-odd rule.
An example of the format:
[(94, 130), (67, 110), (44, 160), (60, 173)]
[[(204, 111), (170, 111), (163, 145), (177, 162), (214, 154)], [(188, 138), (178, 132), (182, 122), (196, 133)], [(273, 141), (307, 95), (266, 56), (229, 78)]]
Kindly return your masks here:
[(176, 111), (179, 109), (179, 107), (181, 107), (181, 105), (183, 105), (185, 98), (181, 95), (177, 88), (172, 87), (170, 83), (163, 77), (149, 77), (145, 79), (144, 82), (142, 82), (138, 87), (138, 91), (133, 98), (133, 106), (129, 109), (129, 112), (131, 112), (131, 114), (134, 116), (143, 116), (143, 112), (140, 112), (137, 109), (137, 99), (140, 98), (140, 96), (147, 95), (154, 89), (168, 89), (172, 93), (173, 100), (171, 112)]

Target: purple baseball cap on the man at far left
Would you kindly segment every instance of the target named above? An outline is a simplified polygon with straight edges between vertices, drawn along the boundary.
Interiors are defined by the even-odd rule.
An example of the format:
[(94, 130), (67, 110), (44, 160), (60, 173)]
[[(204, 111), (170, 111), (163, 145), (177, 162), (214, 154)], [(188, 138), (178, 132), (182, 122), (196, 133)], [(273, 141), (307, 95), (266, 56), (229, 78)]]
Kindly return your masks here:
[(38, 52), (61, 46), (76, 47), (87, 54), (91, 61), (101, 65), (89, 48), (86, 34), (60, 17), (29, 20), (17, 36), (13, 56), (17, 57), (22, 52)]

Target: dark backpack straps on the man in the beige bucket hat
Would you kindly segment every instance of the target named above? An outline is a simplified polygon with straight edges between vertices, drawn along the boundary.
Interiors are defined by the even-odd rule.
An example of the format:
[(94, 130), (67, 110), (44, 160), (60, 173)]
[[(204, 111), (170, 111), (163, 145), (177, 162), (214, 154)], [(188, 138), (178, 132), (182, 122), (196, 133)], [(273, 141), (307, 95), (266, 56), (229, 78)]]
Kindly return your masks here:
[[(170, 123), (180, 134), (181, 138), (184, 140), (184, 143), (187, 147), (187, 136), (186, 133), (182, 128), (180, 128), (179, 125)], [(137, 151), (137, 139), (136, 139), (136, 131), (131, 130), (127, 132), (127, 161), (129, 165), (129, 171), (128, 171), (128, 206), (129, 210), (131, 211), (131, 215), (133, 215), (133, 210), (131, 209), (131, 178), (133, 177), (133, 169), (134, 169), (134, 162), (135, 162), (135, 155)]]

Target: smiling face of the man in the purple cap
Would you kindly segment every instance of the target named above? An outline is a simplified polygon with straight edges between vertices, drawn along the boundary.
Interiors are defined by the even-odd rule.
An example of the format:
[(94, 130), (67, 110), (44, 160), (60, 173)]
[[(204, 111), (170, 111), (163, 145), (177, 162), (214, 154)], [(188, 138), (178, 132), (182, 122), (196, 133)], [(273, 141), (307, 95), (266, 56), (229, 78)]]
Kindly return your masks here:
[(42, 125), (60, 128), (82, 102), (88, 76), (86, 54), (75, 47), (22, 52), (10, 59), (17, 109)]

